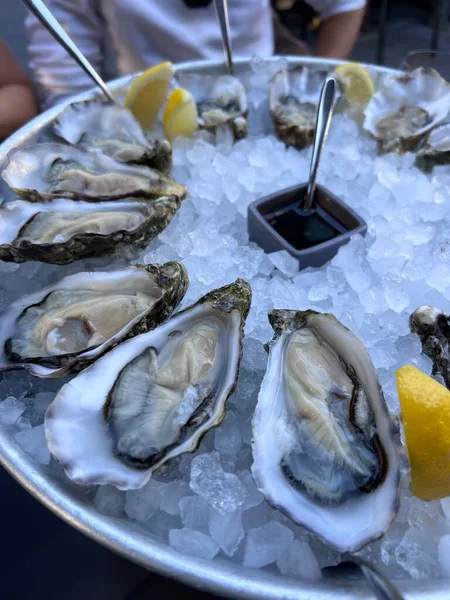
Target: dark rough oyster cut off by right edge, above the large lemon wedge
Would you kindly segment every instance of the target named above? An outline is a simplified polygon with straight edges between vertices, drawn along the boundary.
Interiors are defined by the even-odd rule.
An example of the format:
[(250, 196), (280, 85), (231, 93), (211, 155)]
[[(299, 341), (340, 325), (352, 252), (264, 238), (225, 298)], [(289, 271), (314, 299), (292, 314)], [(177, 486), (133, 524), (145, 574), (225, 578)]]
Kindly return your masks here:
[(432, 374), (450, 389), (450, 315), (434, 306), (419, 306), (409, 318), (412, 333), (422, 342), (422, 352), (433, 361)]

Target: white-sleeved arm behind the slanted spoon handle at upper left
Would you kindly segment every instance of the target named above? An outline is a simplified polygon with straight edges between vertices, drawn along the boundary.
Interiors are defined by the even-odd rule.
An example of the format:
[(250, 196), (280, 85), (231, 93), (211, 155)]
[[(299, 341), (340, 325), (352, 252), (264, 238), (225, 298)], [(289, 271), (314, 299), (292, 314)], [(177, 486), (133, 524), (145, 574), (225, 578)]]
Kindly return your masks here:
[[(47, 0), (48, 8), (66, 32), (100, 72), (103, 21), (96, 0)], [(30, 66), (45, 108), (93, 87), (92, 80), (58, 44), (45, 27), (29, 15), (25, 21)]]

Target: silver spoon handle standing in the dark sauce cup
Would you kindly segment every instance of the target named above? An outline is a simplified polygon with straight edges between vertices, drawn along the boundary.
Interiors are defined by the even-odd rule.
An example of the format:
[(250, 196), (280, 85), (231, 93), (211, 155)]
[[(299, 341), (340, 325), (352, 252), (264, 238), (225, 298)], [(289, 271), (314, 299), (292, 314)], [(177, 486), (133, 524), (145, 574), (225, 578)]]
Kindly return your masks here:
[(317, 170), (319, 168), (320, 156), (323, 143), (330, 129), (331, 117), (333, 116), (334, 96), (336, 93), (336, 80), (328, 77), (322, 87), (319, 107), (317, 109), (316, 131), (314, 133), (313, 154), (311, 159), (311, 170), (309, 172), (308, 190), (303, 205), (303, 210), (311, 210), (316, 189)]

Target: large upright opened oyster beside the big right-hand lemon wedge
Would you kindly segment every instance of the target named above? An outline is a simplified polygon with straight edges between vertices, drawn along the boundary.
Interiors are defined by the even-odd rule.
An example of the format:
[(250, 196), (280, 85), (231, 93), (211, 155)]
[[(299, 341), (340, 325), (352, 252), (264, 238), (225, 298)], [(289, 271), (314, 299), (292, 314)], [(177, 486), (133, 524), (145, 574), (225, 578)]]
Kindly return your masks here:
[(398, 510), (396, 425), (367, 350), (333, 315), (274, 310), (269, 320), (253, 476), (274, 506), (354, 552)]

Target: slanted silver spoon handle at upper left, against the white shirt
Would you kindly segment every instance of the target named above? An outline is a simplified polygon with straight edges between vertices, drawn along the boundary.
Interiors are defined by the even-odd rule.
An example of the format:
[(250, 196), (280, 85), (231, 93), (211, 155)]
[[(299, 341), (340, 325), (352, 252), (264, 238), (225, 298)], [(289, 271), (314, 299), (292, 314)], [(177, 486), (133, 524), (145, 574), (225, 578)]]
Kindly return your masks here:
[(48, 10), (42, 0), (23, 0), (23, 3), (30, 9), (30, 11), (39, 19), (44, 27), (52, 34), (59, 44), (74, 58), (80, 67), (89, 75), (89, 77), (95, 82), (96, 85), (102, 90), (108, 100), (114, 102), (114, 98), (111, 92), (108, 90), (106, 83), (87, 60), (87, 58), (80, 52), (77, 46), (73, 43), (52, 13)]

